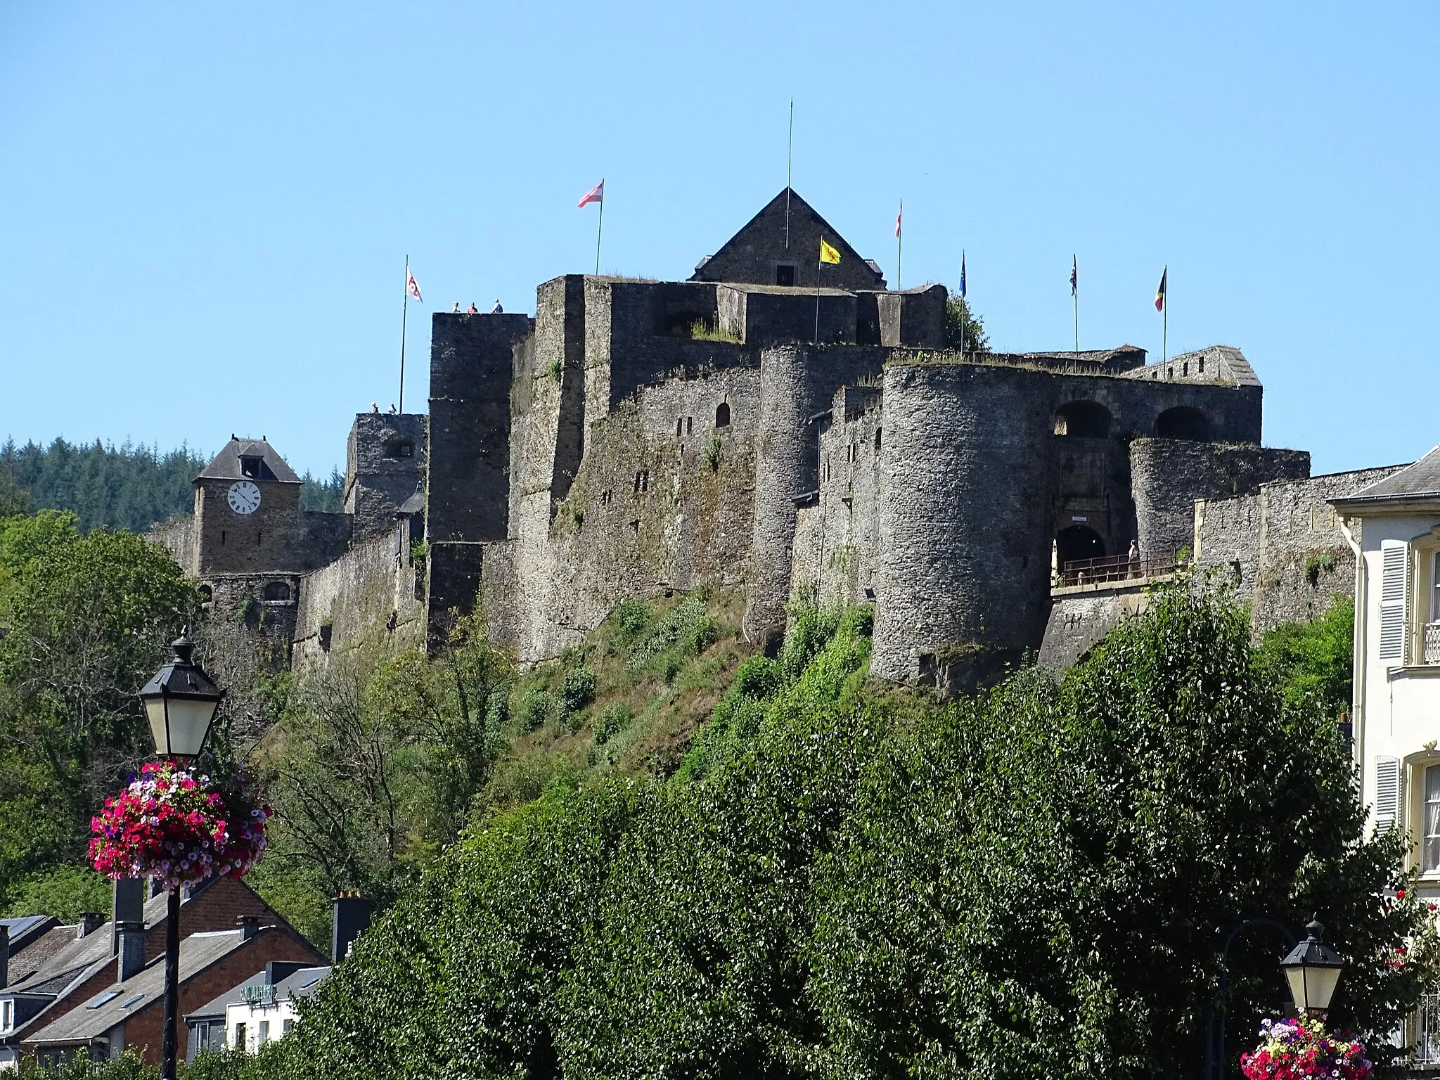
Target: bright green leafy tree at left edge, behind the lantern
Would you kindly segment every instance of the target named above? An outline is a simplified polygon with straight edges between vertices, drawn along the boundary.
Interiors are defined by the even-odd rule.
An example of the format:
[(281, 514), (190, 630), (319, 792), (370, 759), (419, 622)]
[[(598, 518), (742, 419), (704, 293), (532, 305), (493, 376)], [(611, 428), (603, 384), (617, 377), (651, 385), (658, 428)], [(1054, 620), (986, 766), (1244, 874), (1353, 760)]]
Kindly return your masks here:
[(197, 612), (168, 553), (131, 533), (0, 521), (0, 897), (79, 864), (91, 814), (150, 750), (135, 694)]

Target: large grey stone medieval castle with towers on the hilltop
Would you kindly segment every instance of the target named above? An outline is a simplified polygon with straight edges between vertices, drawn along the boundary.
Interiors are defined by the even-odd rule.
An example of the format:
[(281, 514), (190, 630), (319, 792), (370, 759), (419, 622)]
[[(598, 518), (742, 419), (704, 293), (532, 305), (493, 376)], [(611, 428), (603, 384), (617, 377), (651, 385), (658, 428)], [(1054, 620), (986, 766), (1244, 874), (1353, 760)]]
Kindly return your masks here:
[[(841, 262), (816, 285), (822, 236)], [(297, 661), (477, 593), (491, 638), (540, 661), (625, 598), (708, 586), (743, 593), (757, 642), (796, 593), (873, 602), (874, 674), (958, 684), (962, 658), (1038, 648), (1056, 596), (1132, 541), (1146, 567), (1189, 547), (1197, 498), (1309, 475), (1259, 445), (1236, 348), (959, 356), (945, 304), (887, 289), (782, 192), (688, 281), (573, 274), (534, 318), (433, 315), (429, 415), (356, 418), (346, 514), (302, 514), (274, 449), (235, 439), (157, 536), (212, 590), (288, 612)]]

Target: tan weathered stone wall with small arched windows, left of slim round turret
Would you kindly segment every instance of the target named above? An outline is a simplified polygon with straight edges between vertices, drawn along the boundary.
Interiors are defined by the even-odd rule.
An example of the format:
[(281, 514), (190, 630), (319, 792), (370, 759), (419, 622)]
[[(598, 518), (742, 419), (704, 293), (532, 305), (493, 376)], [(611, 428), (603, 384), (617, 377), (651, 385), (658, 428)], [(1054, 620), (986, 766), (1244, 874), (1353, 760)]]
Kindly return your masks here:
[[(756, 372), (710, 372), (647, 386), (593, 422), (553, 517), (541, 528), (536, 492), (517, 540), (485, 546), (492, 639), (523, 661), (544, 660), (628, 596), (737, 586), (752, 533), (757, 397)], [(721, 405), (730, 422), (717, 428)]]

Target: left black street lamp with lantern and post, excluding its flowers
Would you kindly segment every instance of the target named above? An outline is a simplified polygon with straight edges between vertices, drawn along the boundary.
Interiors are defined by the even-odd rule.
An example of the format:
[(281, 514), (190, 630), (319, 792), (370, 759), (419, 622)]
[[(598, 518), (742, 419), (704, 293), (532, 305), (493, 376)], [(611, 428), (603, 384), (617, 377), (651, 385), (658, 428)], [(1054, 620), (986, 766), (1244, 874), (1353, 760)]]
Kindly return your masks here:
[[(174, 657), (156, 672), (140, 700), (145, 706), (156, 753), (179, 765), (200, 753), (225, 691), (190, 657), (189, 628), (171, 642)], [(176, 1080), (176, 1028), (180, 1020), (180, 890), (171, 888), (166, 922), (166, 1012), (160, 1043), (160, 1076)]]

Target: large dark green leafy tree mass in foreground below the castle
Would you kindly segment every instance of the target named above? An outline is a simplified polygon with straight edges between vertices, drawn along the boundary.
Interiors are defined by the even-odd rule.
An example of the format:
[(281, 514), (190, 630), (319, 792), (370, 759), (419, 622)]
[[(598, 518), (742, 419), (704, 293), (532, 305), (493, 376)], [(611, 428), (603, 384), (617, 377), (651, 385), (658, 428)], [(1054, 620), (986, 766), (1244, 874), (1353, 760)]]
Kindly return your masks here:
[[(248, 1074), (1194, 1077), (1256, 912), (1322, 913), (1371, 1041), (1434, 978), (1400, 840), (1228, 600), (1164, 590), (1063, 680), (949, 704), (867, 687), (864, 615), (815, 628), (684, 776), (480, 822)], [(1282, 945), (1231, 956), (1231, 1047)]]

